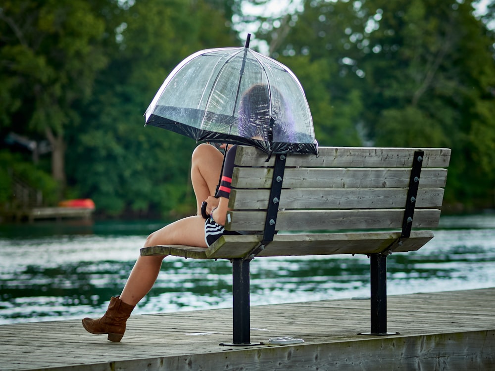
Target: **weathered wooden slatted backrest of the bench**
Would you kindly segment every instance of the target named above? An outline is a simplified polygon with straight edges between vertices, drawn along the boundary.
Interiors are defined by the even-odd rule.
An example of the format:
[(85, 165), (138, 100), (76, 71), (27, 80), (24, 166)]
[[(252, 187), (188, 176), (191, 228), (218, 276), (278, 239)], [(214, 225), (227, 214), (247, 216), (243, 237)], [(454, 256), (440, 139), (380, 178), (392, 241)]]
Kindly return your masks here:
[[(411, 201), (411, 169), (420, 158), (419, 188)], [(262, 231), (275, 156), (240, 146), (226, 229)], [(288, 154), (276, 229), (279, 231), (400, 230), (413, 202), (412, 228), (438, 226), (450, 159), (447, 148), (319, 147), (318, 156)]]

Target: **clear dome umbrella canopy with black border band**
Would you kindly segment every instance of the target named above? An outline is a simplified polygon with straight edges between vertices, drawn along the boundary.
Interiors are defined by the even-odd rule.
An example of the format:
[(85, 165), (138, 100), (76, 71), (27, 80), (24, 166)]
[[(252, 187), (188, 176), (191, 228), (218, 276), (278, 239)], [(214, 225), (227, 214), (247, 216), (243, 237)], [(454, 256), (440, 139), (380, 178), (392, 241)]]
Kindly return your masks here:
[(317, 153), (306, 96), (294, 73), (244, 47), (200, 50), (154, 96), (146, 124), (196, 139), (247, 144), (266, 153)]

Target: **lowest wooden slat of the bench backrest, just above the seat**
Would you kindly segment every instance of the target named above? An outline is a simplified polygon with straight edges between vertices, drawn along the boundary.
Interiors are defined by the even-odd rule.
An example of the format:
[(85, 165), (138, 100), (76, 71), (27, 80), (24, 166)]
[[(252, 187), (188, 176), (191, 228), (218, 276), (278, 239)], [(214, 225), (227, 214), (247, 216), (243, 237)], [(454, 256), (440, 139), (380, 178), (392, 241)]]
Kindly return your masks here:
[[(403, 209), (369, 210), (285, 210), (279, 211), (279, 231), (337, 231), (401, 228)], [(229, 211), (225, 228), (228, 231), (262, 231), (264, 211)], [(440, 210), (419, 209), (414, 212), (413, 228), (438, 226)]]

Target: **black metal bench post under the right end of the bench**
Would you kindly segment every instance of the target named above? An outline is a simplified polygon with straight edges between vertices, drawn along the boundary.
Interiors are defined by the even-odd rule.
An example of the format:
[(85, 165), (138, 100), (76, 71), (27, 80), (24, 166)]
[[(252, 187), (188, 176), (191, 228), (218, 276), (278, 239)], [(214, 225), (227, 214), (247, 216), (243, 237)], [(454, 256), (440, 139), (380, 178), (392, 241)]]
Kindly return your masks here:
[(396, 335), (387, 332), (387, 254), (370, 255), (371, 332), (363, 335)]

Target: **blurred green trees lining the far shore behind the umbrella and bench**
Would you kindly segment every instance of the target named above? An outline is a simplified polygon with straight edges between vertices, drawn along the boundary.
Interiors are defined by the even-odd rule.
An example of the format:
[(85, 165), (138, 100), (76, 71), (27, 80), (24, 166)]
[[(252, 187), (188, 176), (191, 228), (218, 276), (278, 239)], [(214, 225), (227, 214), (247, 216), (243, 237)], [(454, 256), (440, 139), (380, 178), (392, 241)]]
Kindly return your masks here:
[[(0, 139), (48, 139), (52, 152), (29, 166), (2, 161), (26, 165), (23, 178), (52, 204), (88, 197), (110, 216), (194, 212), (196, 143), (143, 128), (143, 114), (182, 59), (243, 45), (239, 22), (254, 22), (253, 38), (305, 88), (320, 145), (452, 148), (446, 202), (494, 207), (493, 12), (475, 18), (473, 1), (293, 0), (291, 14), (255, 16), (243, 2), (267, 0), (3, 1)], [(51, 183), (37, 178), (47, 172)], [(3, 203), (3, 166), (0, 184)]]

